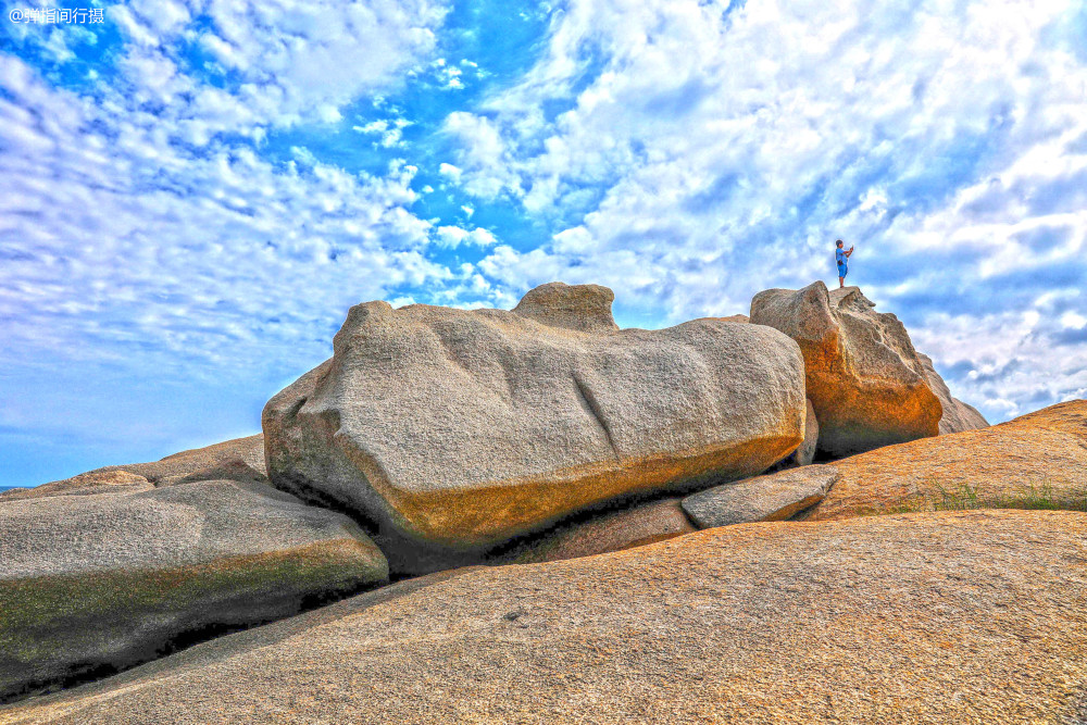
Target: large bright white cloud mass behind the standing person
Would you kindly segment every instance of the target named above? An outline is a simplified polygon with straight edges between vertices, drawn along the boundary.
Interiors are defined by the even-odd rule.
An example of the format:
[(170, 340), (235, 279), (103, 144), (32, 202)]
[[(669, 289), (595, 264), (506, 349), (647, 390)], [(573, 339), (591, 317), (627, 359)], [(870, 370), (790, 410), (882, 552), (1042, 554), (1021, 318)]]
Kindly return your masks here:
[[(575, 0), (521, 82), (449, 114), (462, 188), (555, 229), (493, 248), (496, 288), (608, 284), (635, 318), (678, 322), (833, 280), (841, 237), (850, 280), (938, 364), (1037, 376), (985, 388), (990, 414), (1082, 388), (1087, 341), (1058, 363), (1037, 349), (1052, 320), (1000, 316), (1034, 305), (1019, 286), (1087, 284), (1087, 68), (1047, 40), (1074, 5), (728, 4)], [(934, 312), (958, 296), (961, 327)]]

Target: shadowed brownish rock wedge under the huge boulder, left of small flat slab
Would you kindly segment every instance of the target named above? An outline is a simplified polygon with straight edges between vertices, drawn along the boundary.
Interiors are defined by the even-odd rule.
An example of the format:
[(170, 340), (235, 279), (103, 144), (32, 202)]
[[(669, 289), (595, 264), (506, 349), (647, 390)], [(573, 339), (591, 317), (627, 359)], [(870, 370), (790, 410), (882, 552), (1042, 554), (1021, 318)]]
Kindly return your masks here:
[(586, 521), (562, 524), (492, 561), (530, 564), (592, 557), (664, 541), (695, 530), (679, 499), (670, 498), (619, 511), (595, 512)]

